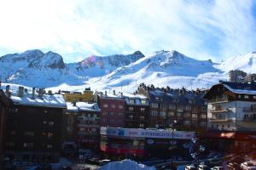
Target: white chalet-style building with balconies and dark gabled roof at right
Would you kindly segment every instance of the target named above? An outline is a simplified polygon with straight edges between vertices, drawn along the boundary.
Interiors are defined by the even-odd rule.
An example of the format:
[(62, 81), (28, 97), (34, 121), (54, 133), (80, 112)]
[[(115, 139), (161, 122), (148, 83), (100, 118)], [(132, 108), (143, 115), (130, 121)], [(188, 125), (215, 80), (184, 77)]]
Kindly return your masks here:
[(205, 98), (208, 131), (213, 139), (223, 139), (215, 143), (218, 148), (236, 147), (239, 152), (256, 150), (256, 84), (220, 82), (210, 88)]

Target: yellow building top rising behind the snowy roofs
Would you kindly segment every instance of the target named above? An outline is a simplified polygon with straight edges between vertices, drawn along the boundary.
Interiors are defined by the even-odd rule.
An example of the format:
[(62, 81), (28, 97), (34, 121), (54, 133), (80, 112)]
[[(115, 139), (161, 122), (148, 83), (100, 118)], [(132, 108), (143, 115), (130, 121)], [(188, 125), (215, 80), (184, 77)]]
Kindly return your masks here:
[(80, 92), (69, 92), (62, 91), (64, 94), (64, 99), (67, 102), (91, 102), (93, 101), (93, 92), (90, 88), (85, 88), (83, 93)]

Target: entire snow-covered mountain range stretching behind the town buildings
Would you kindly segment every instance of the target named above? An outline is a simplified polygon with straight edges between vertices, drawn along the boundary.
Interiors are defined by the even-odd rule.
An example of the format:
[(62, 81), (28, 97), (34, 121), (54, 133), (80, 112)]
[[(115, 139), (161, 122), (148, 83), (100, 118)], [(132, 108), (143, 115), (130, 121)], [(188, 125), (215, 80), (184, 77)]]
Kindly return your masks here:
[(225, 80), (228, 71), (256, 72), (256, 54), (236, 56), (216, 64), (189, 58), (177, 51), (158, 51), (144, 56), (137, 51), (128, 55), (90, 56), (78, 63), (65, 64), (61, 55), (29, 50), (0, 57), (2, 82), (26, 86), (82, 90), (117, 89), (134, 91), (139, 83), (155, 87), (209, 88)]

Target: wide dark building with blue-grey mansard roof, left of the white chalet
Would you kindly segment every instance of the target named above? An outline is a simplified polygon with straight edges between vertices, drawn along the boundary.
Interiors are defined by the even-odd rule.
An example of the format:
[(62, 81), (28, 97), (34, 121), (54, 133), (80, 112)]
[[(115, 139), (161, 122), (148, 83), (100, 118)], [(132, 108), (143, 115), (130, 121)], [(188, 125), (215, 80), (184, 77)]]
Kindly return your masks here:
[(149, 127), (189, 131), (207, 129), (204, 92), (141, 85), (138, 93), (148, 96), (150, 100)]

